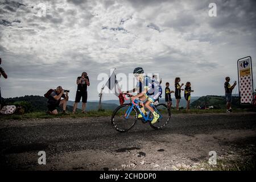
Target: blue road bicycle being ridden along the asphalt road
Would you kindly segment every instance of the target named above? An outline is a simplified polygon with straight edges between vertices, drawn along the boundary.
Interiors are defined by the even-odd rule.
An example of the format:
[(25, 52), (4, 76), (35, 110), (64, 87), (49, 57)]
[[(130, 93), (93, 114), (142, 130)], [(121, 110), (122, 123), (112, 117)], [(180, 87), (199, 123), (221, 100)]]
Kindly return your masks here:
[[(126, 97), (127, 96), (127, 97)], [(128, 93), (123, 93), (123, 97), (125, 100), (130, 100), (130, 104), (123, 104), (118, 106), (112, 114), (111, 123), (115, 130), (123, 133), (132, 129), (137, 122), (137, 120), (141, 120), (142, 123), (149, 123), (149, 125), (155, 129), (162, 129), (171, 119), (171, 110), (168, 108), (166, 104), (151, 104), (151, 107), (160, 115), (158, 121), (154, 124), (151, 124), (152, 119), (154, 118), (153, 114), (150, 110), (143, 113), (141, 110), (141, 106), (139, 102), (143, 104), (144, 101), (140, 101), (138, 99), (131, 100), (133, 95)], [(142, 118), (138, 118), (138, 115), (141, 114)]]

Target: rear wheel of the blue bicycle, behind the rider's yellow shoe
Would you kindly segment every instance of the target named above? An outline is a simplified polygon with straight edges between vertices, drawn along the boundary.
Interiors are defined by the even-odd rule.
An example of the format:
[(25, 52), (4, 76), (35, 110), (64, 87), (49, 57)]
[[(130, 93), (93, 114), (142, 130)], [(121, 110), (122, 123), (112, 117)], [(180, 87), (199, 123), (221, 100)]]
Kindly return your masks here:
[(158, 110), (160, 118), (154, 124), (151, 124), (151, 122), (149, 122), (149, 123), (153, 129), (159, 130), (159, 129), (162, 129), (164, 126), (166, 126), (167, 123), (170, 121), (171, 110), (168, 108), (168, 106), (166, 104), (158, 104), (155, 107)]

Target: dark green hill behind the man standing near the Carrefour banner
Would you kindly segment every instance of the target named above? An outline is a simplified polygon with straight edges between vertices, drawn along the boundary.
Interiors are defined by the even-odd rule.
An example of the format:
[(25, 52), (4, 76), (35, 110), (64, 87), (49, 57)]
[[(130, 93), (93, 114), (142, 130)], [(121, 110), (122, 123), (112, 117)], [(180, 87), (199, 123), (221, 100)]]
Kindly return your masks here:
[[(203, 96), (191, 103), (191, 107), (197, 106), (214, 106), (218, 109), (226, 107), (224, 96)], [(233, 96), (232, 107), (240, 107), (239, 97)]]

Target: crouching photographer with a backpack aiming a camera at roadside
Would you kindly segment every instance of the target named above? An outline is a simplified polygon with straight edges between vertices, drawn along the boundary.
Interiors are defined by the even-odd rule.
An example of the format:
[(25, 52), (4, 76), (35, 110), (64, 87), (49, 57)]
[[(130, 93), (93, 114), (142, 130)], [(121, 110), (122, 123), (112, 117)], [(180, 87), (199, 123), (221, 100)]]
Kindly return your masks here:
[[(65, 93), (65, 94), (64, 94)], [(63, 114), (67, 114), (66, 107), (67, 107), (67, 101), (68, 101), (68, 93), (69, 90), (63, 90), (61, 86), (58, 86), (55, 90), (50, 89), (44, 96), (48, 98), (47, 107), (49, 110), (49, 114), (58, 114), (58, 111), (56, 107), (62, 107), (63, 108)], [(61, 97), (64, 98), (61, 100)]]

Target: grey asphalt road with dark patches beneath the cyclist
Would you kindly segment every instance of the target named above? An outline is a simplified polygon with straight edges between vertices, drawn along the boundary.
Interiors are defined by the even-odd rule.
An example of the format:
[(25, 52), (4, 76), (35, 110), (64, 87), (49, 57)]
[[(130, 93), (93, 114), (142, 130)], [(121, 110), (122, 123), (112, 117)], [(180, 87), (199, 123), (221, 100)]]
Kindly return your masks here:
[[(176, 114), (163, 130), (137, 122), (118, 133), (110, 117), (0, 122), (0, 168), (173, 170), (217, 156), (255, 158), (256, 113)], [(46, 165), (38, 152), (46, 152)], [(204, 168), (201, 168), (204, 169)]]

